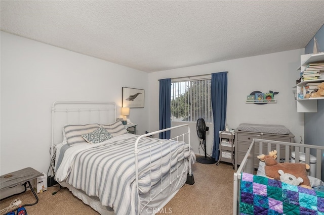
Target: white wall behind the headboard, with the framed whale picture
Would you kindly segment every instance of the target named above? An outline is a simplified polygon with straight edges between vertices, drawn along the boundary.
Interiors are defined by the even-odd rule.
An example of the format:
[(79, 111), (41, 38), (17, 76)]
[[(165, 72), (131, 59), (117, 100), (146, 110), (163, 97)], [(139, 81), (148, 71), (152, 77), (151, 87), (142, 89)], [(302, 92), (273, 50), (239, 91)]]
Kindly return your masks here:
[[(148, 92), (148, 74), (1, 32), (0, 175), (32, 167), (48, 171), (51, 107), (56, 100), (114, 101), (122, 87)], [(138, 133), (148, 130), (145, 108), (131, 109)]]

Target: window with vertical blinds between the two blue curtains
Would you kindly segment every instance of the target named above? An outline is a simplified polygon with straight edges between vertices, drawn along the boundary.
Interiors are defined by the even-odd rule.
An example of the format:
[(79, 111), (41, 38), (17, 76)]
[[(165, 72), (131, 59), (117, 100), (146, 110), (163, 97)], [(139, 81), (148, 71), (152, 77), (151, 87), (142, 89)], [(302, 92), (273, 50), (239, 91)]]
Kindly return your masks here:
[(171, 83), (171, 121), (213, 122), (211, 79)]

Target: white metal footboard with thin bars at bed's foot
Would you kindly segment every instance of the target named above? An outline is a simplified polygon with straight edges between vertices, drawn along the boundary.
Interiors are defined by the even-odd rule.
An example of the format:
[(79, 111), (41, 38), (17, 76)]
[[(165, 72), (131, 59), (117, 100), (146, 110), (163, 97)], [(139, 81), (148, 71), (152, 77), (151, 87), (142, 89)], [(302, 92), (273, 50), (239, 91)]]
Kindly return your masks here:
[[(137, 193), (139, 193), (139, 173), (138, 173), (138, 153), (141, 151), (141, 150), (145, 150), (145, 148), (144, 149), (141, 149), (141, 150), (139, 150), (138, 149), (138, 143), (139, 143), (139, 141), (143, 138), (143, 137), (148, 137), (148, 136), (151, 136), (151, 135), (154, 135), (154, 134), (159, 134), (159, 133), (162, 133), (162, 132), (165, 132), (165, 131), (170, 131), (170, 130), (174, 130), (174, 129), (178, 129), (178, 128), (181, 128), (181, 127), (187, 127), (187, 132), (186, 133), (183, 133), (182, 135), (180, 135), (180, 136), (176, 136), (176, 137), (174, 137), (174, 138), (171, 138), (171, 139), (169, 139), (169, 143), (168, 144), (170, 144), (171, 145), (171, 143), (172, 143), (172, 140), (175, 140), (175, 141), (182, 141), (183, 142), (183, 144), (188, 144), (188, 152), (189, 152), (189, 157), (188, 157), (188, 168), (186, 168), (186, 165), (184, 165), (183, 166), (183, 169), (180, 169), (180, 170), (178, 170), (178, 175), (177, 175), (177, 178), (175, 178), (174, 180), (172, 180), (171, 178), (170, 178), (170, 183), (167, 185), (167, 186), (169, 186), (169, 185), (171, 185), (174, 181), (176, 181), (178, 178), (179, 178), (179, 175), (180, 174), (184, 174), (184, 173), (187, 173), (188, 172), (188, 175), (189, 176), (192, 176), (192, 172), (191, 172), (191, 155), (190, 155), (190, 153), (191, 153), (191, 148), (190, 148), (190, 128), (189, 128), (189, 126), (187, 125), (187, 124), (184, 124), (184, 125), (179, 125), (179, 126), (174, 126), (174, 127), (171, 127), (171, 128), (167, 128), (167, 129), (163, 129), (163, 130), (159, 130), (159, 131), (155, 131), (155, 132), (151, 132), (151, 133), (147, 133), (147, 134), (143, 134), (143, 135), (141, 135), (141, 136), (139, 136), (138, 138), (137, 138), (137, 140), (136, 140), (136, 142), (135, 142), (135, 149), (134, 149), (134, 155), (135, 155), (135, 178), (136, 178), (136, 191), (137, 191)], [(185, 143), (185, 135), (187, 135), (187, 137), (188, 137), (188, 140), (187, 140), (187, 143)], [(159, 143), (156, 143), (156, 144), (153, 144), (153, 145), (150, 145), (149, 147), (152, 147), (152, 146), (154, 146), (154, 145), (161, 145), (162, 144), (162, 142), (159, 142)], [(166, 144), (165, 142), (164, 142), (164, 144)], [(171, 150), (171, 149), (170, 149)], [(160, 151), (160, 153), (161, 153), (161, 151)], [(162, 154), (162, 153), (161, 153)], [(171, 158), (170, 158), (171, 159)], [(184, 162), (185, 162), (185, 160), (184, 160)], [(177, 167), (178, 168), (178, 167)], [(171, 170), (169, 170), (169, 173), (171, 174)], [(162, 186), (162, 176), (161, 176), (161, 178), (160, 178), (160, 181), (161, 181), (161, 184), (160, 184), (160, 191), (158, 192), (158, 193), (155, 193), (154, 195), (152, 195), (152, 194), (150, 194), (150, 198), (149, 198), (149, 201), (145, 204), (145, 205), (143, 205), (143, 207), (142, 207), (142, 210), (144, 209), (144, 207), (150, 202), (150, 201), (152, 201), (153, 199), (154, 199), (154, 197), (156, 197), (158, 194), (160, 194), (166, 187), (163, 187)], [(142, 212), (142, 211), (141, 211)], [(140, 213), (141, 213), (140, 212)]]

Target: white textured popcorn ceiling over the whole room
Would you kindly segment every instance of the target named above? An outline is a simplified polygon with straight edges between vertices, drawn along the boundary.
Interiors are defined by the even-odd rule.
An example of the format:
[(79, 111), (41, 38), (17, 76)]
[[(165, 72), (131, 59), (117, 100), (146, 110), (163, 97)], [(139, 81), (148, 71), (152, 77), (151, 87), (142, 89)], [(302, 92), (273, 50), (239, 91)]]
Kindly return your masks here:
[(1, 30), (145, 72), (303, 48), (324, 1), (1, 1)]

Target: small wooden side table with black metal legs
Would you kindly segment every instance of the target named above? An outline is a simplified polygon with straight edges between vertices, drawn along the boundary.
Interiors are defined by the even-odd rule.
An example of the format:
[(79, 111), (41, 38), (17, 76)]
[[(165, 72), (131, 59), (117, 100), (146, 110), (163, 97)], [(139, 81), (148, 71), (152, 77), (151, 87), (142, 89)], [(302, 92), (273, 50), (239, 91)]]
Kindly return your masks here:
[[(37, 197), (35, 191), (32, 189), (32, 186), (30, 184), (30, 180), (35, 179), (35, 178), (40, 177), (40, 176), (43, 176), (43, 173), (40, 173), (40, 172), (30, 168), (30, 167), (22, 169), (22, 170), (18, 170), (16, 172), (8, 173), (6, 175), (0, 176), (0, 190), (10, 188), (10, 187), (13, 187), (13, 186), (18, 185), (18, 184), (23, 184), (24, 187), (25, 187), (25, 190), (22, 191), (21, 193), (26, 192), (27, 187), (29, 187), (31, 192), (34, 194), (34, 196), (36, 198), (36, 201), (34, 203), (24, 204), (24, 205), (21, 205), (21, 206), (24, 207), (24, 206), (31, 206), (31, 205), (37, 204), (38, 197)], [(26, 186), (27, 183), (28, 183), (28, 186)], [(7, 198), (12, 197), (14, 195), (19, 195), (21, 193), (13, 194), (13, 195), (8, 196), (6, 198), (3, 198), (1, 200), (7, 199)], [(19, 207), (17, 207), (14, 210), (11, 210), (11, 211), (15, 211), (18, 208)]]

